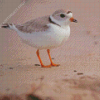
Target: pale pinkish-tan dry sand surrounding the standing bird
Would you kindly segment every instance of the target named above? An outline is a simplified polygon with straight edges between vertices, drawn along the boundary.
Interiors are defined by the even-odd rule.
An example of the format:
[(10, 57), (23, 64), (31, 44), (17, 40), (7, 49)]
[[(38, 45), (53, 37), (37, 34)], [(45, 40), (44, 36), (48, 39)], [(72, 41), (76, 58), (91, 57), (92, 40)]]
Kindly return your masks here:
[[(2, 3), (0, 23), (21, 2), (15, 1)], [(68, 41), (51, 50), (59, 67), (36, 66), (36, 49), (22, 43), (16, 32), (0, 29), (0, 100), (100, 100), (99, 0), (29, 0), (8, 22), (24, 23), (57, 9), (70, 9), (78, 20), (71, 23)], [(45, 50), (41, 57), (49, 64)]]

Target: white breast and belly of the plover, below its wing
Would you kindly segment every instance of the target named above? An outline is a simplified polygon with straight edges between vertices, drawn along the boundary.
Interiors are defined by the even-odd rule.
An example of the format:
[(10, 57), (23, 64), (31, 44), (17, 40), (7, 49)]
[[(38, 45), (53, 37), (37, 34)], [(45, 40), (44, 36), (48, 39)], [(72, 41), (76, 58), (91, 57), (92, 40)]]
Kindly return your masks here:
[(17, 31), (17, 33), (24, 43), (38, 49), (50, 49), (62, 45), (70, 35), (70, 27), (61, 28), (53, 24), (48, 25), (50, 28), (45, 32), (34, 32), (30, 34)]

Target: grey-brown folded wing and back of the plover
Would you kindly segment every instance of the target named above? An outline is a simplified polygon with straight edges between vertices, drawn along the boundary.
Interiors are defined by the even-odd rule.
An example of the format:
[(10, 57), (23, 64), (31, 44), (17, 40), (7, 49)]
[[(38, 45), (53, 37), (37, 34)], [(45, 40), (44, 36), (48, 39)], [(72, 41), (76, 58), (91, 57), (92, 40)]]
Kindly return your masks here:
[(37, 18), (35, 20), (30, 20), (24, 24), (16, 25), (16, 28), (19, 31), (25, 32), (25, 33), (33, 33), (33, 32), (39, 32), (39, 31), (46, 31), (49, 27), (47, 24), (49, 22), (49, 16), (44, 16), (41, 18)]

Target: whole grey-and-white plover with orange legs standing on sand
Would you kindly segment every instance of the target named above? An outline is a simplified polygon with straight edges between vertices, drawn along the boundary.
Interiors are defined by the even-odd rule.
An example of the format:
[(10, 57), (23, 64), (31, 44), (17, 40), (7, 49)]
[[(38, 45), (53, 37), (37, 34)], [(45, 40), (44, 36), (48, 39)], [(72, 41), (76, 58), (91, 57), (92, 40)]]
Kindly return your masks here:
[[(24, 43), (37, 48), (36, 54), (41, 67), (49, 68), (59, 66), (59, 64), (53, 63), (50, 49), (59, 47), (66, 42), (70, 36), (70, 22), (77, 22), (71, 11), (57, 10), (51, 15), (32, 19), (21, 25), (6, 23), (1, 27), (15, 30)], [(47, 49), (50, 65), (43, 64), (39, 55), (41, 49)]]

